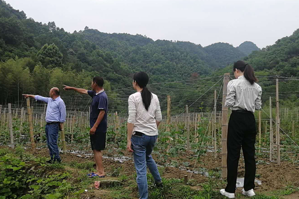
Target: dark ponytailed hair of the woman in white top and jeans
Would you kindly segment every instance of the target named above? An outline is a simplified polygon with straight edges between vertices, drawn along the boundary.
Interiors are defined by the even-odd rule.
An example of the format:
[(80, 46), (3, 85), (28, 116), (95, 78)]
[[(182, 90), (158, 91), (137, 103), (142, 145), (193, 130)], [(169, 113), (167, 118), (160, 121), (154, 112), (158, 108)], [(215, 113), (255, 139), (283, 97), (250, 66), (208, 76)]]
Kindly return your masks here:
[(149, 92), (147, 85), (149, 83), (149, 76), (145, 72), (138, 72), (134, 74), (133, 80), (138, 84), (140, 88), (143, 88), (141, 92), (142, 101), (145, 105), (145, 108), (149, 110), (150, 101), (152, 98), (151, 93)]

